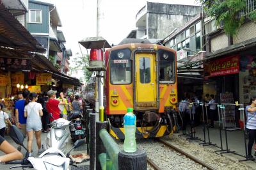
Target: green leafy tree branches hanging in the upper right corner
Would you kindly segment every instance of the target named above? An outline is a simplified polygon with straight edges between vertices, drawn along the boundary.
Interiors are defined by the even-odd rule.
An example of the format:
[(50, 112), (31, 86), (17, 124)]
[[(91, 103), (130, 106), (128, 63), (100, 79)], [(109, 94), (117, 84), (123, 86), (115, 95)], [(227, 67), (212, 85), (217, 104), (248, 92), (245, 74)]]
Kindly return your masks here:
[(216, 19), (217, 26), (223, 24), (225, 33), (234, 36), (244, 19), (256, 20), (256, 12), (243, 13), (246, 8), (244, 0), (199, 0), (208, 17)]

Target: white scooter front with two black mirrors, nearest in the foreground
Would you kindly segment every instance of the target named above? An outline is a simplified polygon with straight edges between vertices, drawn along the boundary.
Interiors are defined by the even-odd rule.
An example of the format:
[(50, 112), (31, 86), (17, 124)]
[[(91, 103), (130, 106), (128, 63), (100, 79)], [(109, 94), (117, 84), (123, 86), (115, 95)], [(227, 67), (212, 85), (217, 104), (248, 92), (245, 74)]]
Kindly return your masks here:
[(22, 160), (13, 160), (10, 162), (5, 162), (5, 164), (20, 164), (19, 166), (11, 166), (10, 169), (22, 167), (22, 169), (29, 167), (34, 169), (40, 170), (50, 170), (50, 169), (63, 169), (67, 170), (68, 166), (76, 166), (71, 161), (70, 164), (70, 152), (74, 148), (78, 148), (84, 143), (84, 139), (77, 140), (76, 143), (73, 144), (73, 147), (70, 151), (68, 151), (67, 155), (56, 148), (49, 148), (48, 150), (44, 151), (38, 158), (29, 157), (28, 149), (24, 146), (24, 135), (20, 132), (19, 128), (15, 125), (12, 125), (10, 129), (10, 136), (12, 137), (13, 141), (16, 144), (19, 144), (27, 151), (25, 158)]

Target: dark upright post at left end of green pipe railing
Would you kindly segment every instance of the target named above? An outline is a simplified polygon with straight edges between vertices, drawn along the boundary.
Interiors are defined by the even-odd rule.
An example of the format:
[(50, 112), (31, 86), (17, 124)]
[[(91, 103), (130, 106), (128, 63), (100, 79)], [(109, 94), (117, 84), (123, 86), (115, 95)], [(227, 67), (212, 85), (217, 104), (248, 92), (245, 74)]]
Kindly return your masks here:
[(100, 169), (99, 155), (100, 153), (106, 153), (106, 148), (100, 139), (99, 132), (101, 129), (108, 129), (108, 121), (96, 122), (96, 169)]

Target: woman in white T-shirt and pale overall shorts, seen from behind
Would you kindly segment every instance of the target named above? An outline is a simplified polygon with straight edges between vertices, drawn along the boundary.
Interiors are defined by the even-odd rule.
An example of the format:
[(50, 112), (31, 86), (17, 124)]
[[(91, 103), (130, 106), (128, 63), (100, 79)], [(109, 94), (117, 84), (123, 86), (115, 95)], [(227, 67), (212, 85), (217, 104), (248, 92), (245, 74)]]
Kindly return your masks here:
[(28, 133), (28, 151), (31, 155), (33, 135), (35, 131), (36, 144), (38, 147), (38, 154), (42, 152), (41, 148), (41, 130), (42, 122), (40, 116), (43, 116), (43, 107), (41, 104), (37, 103), (38, 95), (36, 93), (31, 93), (29, 95), (29, 102), (24, 109), (24, 116), (27, 118), (27, 133)]

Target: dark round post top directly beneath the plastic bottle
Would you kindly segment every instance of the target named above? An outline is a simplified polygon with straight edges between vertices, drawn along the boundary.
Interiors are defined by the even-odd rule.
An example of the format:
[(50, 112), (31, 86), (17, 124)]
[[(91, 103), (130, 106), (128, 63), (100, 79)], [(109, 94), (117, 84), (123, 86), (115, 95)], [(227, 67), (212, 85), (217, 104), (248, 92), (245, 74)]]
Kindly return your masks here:
[(118, 153), (118, 169), (147, 170), (147, 153), (144, 150), (137, 150), (133, 153), (120, 151)]

